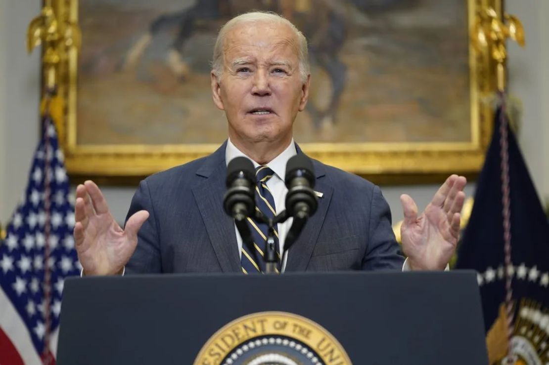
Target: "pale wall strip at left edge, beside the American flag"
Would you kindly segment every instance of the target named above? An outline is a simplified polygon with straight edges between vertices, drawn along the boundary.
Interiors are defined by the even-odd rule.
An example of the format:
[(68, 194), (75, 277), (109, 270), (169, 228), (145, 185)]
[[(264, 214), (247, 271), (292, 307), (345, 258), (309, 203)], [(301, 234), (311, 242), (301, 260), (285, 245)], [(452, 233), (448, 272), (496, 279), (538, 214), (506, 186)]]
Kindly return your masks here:
[(23, 196), (38, 141), (40, 49), (26, 52), (27, 25), (40, 0), (0, 1), (0, 222)]

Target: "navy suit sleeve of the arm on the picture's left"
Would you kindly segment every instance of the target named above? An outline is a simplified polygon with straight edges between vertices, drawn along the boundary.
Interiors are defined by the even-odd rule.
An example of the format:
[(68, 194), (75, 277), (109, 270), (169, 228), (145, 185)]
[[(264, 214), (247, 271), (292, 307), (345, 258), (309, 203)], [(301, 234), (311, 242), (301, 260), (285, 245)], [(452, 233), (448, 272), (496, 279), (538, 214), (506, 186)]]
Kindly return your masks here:
[(141, 226), (141, 229), (137, 233), (137, 247), (130, 261), (126, 264), (125, 274), (160, 273), (162, 272), (162, 258), (160, 254), (158, 224), (147, 180), (139, 183), (139, 187), (133, 195), (126, 221), (139, 210), (147, 210), (149, 218), (143, 223), (143, 226)]

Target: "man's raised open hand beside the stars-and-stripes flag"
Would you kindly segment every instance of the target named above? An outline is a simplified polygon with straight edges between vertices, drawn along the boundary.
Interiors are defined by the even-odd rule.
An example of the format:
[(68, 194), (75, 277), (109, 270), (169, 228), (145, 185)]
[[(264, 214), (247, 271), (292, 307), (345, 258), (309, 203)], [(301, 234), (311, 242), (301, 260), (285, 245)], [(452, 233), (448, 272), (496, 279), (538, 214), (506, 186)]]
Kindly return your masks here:
[(147, 218), (147, 210), (139, 210), (122, 229), (93, 181), (77, 186), (74, 240), (84, 275), (121, 273), (136, 249), (137, 232)]

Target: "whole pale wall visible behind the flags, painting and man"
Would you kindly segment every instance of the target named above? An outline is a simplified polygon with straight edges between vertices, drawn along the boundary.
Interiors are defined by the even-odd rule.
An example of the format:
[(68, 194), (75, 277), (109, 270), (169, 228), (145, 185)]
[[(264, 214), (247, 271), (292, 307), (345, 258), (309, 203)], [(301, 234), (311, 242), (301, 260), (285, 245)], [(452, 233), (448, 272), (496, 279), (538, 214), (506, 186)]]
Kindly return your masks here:
[[(0, 0), (0, 222), (22, 195), (38, 138), (38, 52), (25, 51), (26, 27), (41, 1)], [(507, 1), (526, 28), (526, 49), (509, 47), (509, 87), (524, 103), (520, 144), (542, 198), (549, 196), (549, 2)], [(466, 192), (472, 194), (474, 184)], [(102, 186), (115, 218), (123, 221), (133, 188)], [(402, 218), (399, 196), (406, 192), (423, 209), (438, 185), (384, 186), (394, 221)]]

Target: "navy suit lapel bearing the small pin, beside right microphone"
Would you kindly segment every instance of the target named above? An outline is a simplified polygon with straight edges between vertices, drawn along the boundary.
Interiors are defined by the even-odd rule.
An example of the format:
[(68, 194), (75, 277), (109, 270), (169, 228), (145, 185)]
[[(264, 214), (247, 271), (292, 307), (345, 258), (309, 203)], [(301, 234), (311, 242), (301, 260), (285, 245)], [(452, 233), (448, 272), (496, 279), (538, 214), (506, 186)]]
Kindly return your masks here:
[[(298, 150), (298, 153), (301, 151)], [(288, 252), (288, 261), (285, 271), (305, 271), (313, 249), (316, 246), (318, 234), (326, 218), (330, 199), (332, 199), (333, 187), (329, 185), (324, 166), (320, 162), (313, 160), (316, 174), (315, 191), (323, 193), (322, 198), (318, 198), (318, 209), (316, 213), (307, 221), (304, 229), (301, 231), (298, 239), (293, 244)]]

